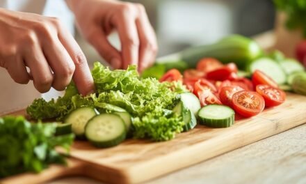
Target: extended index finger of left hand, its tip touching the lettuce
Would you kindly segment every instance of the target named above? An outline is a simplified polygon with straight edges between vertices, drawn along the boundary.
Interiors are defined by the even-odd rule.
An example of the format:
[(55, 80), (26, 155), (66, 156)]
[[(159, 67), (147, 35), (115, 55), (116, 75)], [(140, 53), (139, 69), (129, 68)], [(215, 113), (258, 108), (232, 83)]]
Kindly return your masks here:
[(61, 26), (58, 21), (56, 21), (56, 24), (59, 30), (58, 38), (74, 62), (75, 70), (72, 79), (79, 93), (81, 95), (95, 93), (95, 85), (85, 55), (69, 31)]

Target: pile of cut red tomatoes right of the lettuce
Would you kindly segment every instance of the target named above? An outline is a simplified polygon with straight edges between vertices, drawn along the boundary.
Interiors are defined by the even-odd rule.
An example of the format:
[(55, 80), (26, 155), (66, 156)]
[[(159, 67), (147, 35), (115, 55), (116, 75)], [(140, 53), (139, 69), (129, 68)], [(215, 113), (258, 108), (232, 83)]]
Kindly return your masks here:
[[(160, 81), (182, 81), (189, 91), (198, 96), (202, 107), (227, 105), (244, 117), (255, 116), (262, 112), (264, 107), (280, 105), (286, 98), (284, 91), (279, 89), (277, 83), (264, 72), (255, 70), (251, 81), (239, 77), (235, 63), (224, 65), (212, 58), (202, 59), (196, 69), (185, 70), (184, 76), (176, 69), (169, 70)], [(227, 112), (225, 107), (223, 109), (220, 110), (219, 116)], [(202, 111), (205, 112), (204, 109), (200, 112)]]

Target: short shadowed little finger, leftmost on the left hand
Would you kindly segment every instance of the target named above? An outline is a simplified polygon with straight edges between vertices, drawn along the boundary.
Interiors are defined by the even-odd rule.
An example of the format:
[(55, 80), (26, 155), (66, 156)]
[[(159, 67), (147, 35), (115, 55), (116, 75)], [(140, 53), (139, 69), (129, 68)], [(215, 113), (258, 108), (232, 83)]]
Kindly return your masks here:
[(29, 73), (26, 71), (26, 66), (22, 58), (7, 62), (7, 70), (10, 77), (12, 77), (12, 79), (19, 84), (28, 84), (30, 77)]

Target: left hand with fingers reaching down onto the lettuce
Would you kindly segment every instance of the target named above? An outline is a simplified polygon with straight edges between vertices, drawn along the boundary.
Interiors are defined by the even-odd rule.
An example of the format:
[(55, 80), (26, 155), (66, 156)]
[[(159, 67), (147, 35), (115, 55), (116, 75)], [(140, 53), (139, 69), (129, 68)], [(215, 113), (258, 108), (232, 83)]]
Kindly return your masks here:
[(71, 79), (82, 95), (94, 91), (86, 57), (54, 17), (0, 8), (0, 66), (19, 84), (33, 79), (40, 93), (62, 91)]

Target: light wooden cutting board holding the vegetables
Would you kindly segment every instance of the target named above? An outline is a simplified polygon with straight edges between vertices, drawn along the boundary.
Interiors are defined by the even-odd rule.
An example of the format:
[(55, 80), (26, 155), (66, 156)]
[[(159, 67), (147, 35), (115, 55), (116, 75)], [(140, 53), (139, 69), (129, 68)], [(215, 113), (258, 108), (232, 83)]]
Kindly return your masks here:
[[(24, 114), (24, 111), (15, 112)], [(306, 96), (287, 94), (279, 107), (236, 121), (230, 128), (195, 129), (171, 141), (130, 139), (113, 148), (95, 148), (75, 141), (67, 167), (53, 165), (40, 174), (21, 174), (0, 183), (41, 183), (68, 175), (83, 175), (107, 183), (140, 183), (188, 167), (306, 123)]]

